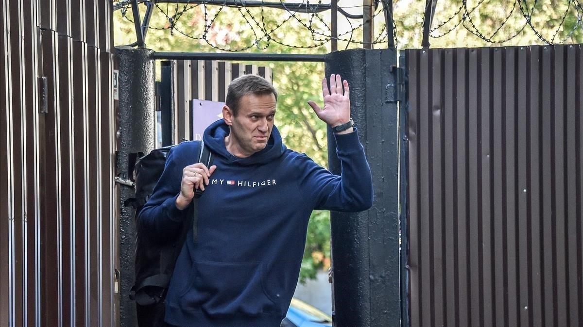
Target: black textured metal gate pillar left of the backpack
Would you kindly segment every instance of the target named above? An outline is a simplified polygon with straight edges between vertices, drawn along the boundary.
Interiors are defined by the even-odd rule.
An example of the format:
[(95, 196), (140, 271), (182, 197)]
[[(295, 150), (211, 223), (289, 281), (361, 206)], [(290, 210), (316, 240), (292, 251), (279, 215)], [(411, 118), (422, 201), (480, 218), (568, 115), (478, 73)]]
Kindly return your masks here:
[(134, 197), (132, 185), (135, 159), (154, 148), (154, 60), (150, 49), (119, 47), (115, 57), (119, 67), (119, 110), (117, 129), (116, 182), (120, 197), (120, 326), (136, 326), (135, 302), (129, 299), (134, 285), (134, 209), (124, 201)]

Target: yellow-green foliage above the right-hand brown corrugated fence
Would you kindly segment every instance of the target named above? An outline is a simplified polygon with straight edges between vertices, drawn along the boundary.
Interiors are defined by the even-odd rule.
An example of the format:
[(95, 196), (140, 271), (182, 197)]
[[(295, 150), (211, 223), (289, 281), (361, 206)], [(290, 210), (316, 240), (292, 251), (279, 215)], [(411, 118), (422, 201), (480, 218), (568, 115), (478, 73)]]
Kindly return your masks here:
[[(468, 0), (465, 1), (466, 12), (466, 8), (462, 7), (462, 1), (438, 0), (431, 26), (432, 29), (442, 26), (431, 33), (434, 36), (430, 38), (431, 47), (465, 48), (545, 44), (531, 26), (526, 24), (521, 8), (532, 17), (532, 26), (546, 40), (552, 41), (554, 35), (554, 43), (580, 43), (583, 40), (580, 20), (583, 8), (575, 6), (578, 2), (573, 0)], [(424, 10), (425, 1), (394, 1), (399, 48), (421, 47)], [(466, 19), (460, 23), (464, 15)], [(464, 26), (469, 30), (479, 30), (484, 37), (495, 43), (484, 41), (470, 33)], [(449, 30), (452, 31), (449, 32)]]

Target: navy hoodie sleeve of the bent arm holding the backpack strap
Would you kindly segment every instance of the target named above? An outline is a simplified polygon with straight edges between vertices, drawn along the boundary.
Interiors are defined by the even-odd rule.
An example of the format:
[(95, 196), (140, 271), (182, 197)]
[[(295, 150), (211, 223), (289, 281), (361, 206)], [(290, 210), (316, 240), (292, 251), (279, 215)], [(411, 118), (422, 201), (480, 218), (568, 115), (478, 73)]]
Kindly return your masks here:
[(182, 169), (184, 169), (178, 155), (180, 148), (177, 146), (170, 150), (164, 172), (154, 187), (152, 196), (138, 216), (138, 228), (160, 241), (171, 240), (178, 235), (189, 208), (180, 210), (175, 204), (180, 194)]

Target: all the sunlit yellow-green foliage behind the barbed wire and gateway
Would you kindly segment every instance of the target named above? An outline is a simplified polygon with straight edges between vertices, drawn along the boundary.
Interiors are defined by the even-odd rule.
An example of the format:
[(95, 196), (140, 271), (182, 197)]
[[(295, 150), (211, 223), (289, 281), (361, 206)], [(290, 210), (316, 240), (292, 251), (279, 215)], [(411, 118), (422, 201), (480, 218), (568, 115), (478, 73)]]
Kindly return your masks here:
[[(520, 1), (520, 2), (518, 2)], [(297, 2), (297, 1), (296, 1)], [(419, 48), (422, 40), (424, 0), (394, 0), (394, 18), (398, 48)], [(359, 1), (358, 5), (362, 2)], [(462, 4), (466, 3), (466, 9)], [(526, 25), (521, 13), (532, 13), (531, 23), (547, 40), (577, 43), (583, 39), (581, 13), (573, 0), (439, 0), (431, 35), (431, 47), (484, 47), (497, 45), (543, 44), (543, 41)], [(359, 13), (353, 1), (340, 0), (339, 6), (351, 13)], [(375, 37), (384, 37), (382, 6), (375, 16)], [(134, 24), (129, 9), (114, 14), (115, 45), (135, 41)], [(145, 6), (141, 5), (141, 16)], [(461, 22), (462, 17), (466, 20)], [(270, 8), (226, 8), (203, 5), (175, 5), (160, 3), (154, 9), (147, 32), (146, 45), (155, 51), (215, 52), (243, 50), (245, 52), (271, 52), (282, 54), (325, 54), (330, 51), (326, 35), (330, 16), (322, 13), (321, 19), (306, 14), (289, 13)], [(301, 20), (299, 22), (298, 20)], [(471, 22), (470, 22), (471, 20)], [(212, 22), (212, 24), (211, 24)], [(473, 25), (472, 25), (473, 23)], [(347, 20), (339, 15), (338, 49), (360, 48), (362, 29), (360, 20)], [(457, 26), (456, 26), (457, 24)], [(478, 29), (484, 37), (500, 44), (484, 41), (470, 30)], [(475, 26), (475, 27), (473, 27)], [(559, 27), (557, 31), (557, 27)], [(454, 28), (455, 27), (455, 28)], [(268, 31), (269, 36), (261, 33)], [(451, 30), (451, 31), (449, 31)], [(324, 34), (324, 35), (322, 35)], [(442, 35), (442, 36), (440, 36)], [(515, 37), (512, 37), (516, 35)], [(440, 36), (440, 37), (437, 37)], [(203, 37), (203, 38), (201, 38)], [(435, 38), (437, 37), (437, 38)], [(554, 39), (553, 39), (554, 37)], [(322, 41), (324, 40), (324, 41)], [(356, 42), (347, 42), (348, 40)], [(386, 42), (386, 39), (385, 39)], [(290, 47), (291, 45), (291, 47)], [(318, 46), (320, 45), (320, 46)], [(297, 47), (297, 48), (296, 48)], [(386, 43), (375, 45), (386, 47)], [(267, 49), (267, 50), (266, 50)], [(322, 166), (327, 164), (326, 126), (321, 122), (307, 101), (322, 102), (321, 79), (323, 63), (304, 62), (253, 62), (269, 66), (273, 70), (273, 84), (278, 89), (278, 125), (285, 144), (298, 152), (304, 152)], [(327, 211), (315, 211), (308, 225), (304, 260), (300, 280), (315, 278), (318, 269), (330, 265), (330, 218)]]

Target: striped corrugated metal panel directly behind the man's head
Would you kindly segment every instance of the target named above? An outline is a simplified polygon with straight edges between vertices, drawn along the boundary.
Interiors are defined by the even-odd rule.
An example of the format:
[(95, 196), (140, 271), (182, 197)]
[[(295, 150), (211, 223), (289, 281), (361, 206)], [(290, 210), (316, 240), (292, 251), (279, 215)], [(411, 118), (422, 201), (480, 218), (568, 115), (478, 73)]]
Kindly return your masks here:
[(268, 81), (273, 81), (270, 67), (244, 65), (224, 61), (173, 61), (174, 65), (174, 99), (176, 101), (175, 140), (184, 137), (193, 140), (192, 99), (224, 102), (227, 87), (232, 80), (244, 74), (256, 74)]

